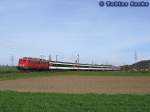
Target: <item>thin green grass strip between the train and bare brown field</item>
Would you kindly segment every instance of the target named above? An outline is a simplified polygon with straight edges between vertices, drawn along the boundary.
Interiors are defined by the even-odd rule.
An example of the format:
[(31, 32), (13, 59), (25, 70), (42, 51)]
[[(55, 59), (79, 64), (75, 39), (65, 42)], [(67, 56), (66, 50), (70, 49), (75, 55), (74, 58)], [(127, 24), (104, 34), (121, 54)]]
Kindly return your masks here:
[(46, 77), (56, 75), (80, 76), (150, 76), (150, 73), (123, 72), (123, 71), (46, 71), (46, 72), (0, 72), (0, 80), (12, 80), (29, 77)]

